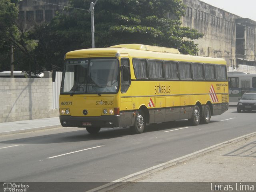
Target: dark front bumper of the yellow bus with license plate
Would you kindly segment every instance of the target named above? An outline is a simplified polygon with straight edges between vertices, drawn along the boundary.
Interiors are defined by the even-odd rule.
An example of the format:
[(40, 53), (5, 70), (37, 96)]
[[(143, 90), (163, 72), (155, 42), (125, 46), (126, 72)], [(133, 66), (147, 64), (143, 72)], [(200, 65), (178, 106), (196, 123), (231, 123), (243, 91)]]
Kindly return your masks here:
[(63, 127), (119, 127), (119, 115), (106, 115), (97, 117), (74, 117), (60, 115), (60, 123)]

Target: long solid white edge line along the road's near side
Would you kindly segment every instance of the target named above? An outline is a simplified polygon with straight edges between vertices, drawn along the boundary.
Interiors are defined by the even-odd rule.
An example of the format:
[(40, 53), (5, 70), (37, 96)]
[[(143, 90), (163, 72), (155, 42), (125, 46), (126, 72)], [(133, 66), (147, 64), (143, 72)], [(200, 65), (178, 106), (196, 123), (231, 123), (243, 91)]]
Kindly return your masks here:
[[(176, 162), (176, 161), (178, 161), (178, 160), (182, 160), (182, 159), (188, 158), (188, 157), (190, 157), (190, 156), (200, 154), (200, 153), (202, 153), (202, 152), (205, 152), (205, 151), (208, 151), (208, 150), (210, 150), (210, 149), (216, 148), (216, 147), (221, 146), (221, 145), (223, 145), (223, 144), (228, 144), (228, 143), (230, 143), (230, 142), (233, 142), (233, 141), (242, 139), (242, 138), (244, 138), (244, 137), (247, 137), (247, 136), (250, 136), (250, 135), (253, 135), (253, 134), (256, 134), (256, 132), (252, 132), (252, 133), (250, 133), (250, 134), (246, 134), (246, 135), (243, 135), (243, 136), (240, 136), (240, 137), (237, 137), (237, 138), (228, 140), (228, 141), (224, 141), (224, 142), (221, 142), (221, 143), (219, 143), (219, 144), (210, 146), (210, 147), (208, 147), (208, 148), (204, 148), (204, 149), (202, 149), (202, 150), (199, 150), (199, 151), (196, 151), (196, 152), (193, 152), (193, 153), (184, 155), (184, 156), (182, 156), (182, 157), (179, 157), (179, 158), (170, 160), (170, 161), (168, 161), (168, 162), (165, 162), (165, 163), (162, 163), (162, 164), (158, 164), (158, 165), (156, 165), (156, 166), (152, 166), (152, 167), (150, 167), (150, 168), (144, 169), (144, 170), (139, 171), (139, 172), (136, 172), (136, 173), (134, 173), (134, 174), (130, 174), (130, 175), (128, 175), (128, 176), (125, 176), (125, 177), (120, 178), (120, 179), (118, 179), (118, 180), (112, 181), (112, 182), (107, 183), (107, 184), (105, 184), (105, 185), (102, 185), (102, 186), (99, 186), (99, 187), (97, 187), (97, 188), (88, 190), (88, 191), (86, 191), (86, 192), (96, 192), (96, 191), (101, 190), (101, 189), (104, 189), (104, 188), (106, 188), (106, 189), (108, 189), (108, 190), (114, 189), (114, 188), (115, 188), (114, 184), (116, 184), (116, 183), (120, 183), (120, 182), (130, 182), (128, 179), (133, 178), (133, 177), (135, 177), (135, 176), (138, 176), (138, 175), (140, 175), (140, 174), (144, 174), (144, 173), (149, 172), (149, 171), (151, 171), (151, 170), (163, 170), (163, 168), (162, 168), (163, 166), (168, 166), (168, 164), (172, 164), (173, 162)], [(113, 187), (111, 188), (111, 186), (113, 186)]]

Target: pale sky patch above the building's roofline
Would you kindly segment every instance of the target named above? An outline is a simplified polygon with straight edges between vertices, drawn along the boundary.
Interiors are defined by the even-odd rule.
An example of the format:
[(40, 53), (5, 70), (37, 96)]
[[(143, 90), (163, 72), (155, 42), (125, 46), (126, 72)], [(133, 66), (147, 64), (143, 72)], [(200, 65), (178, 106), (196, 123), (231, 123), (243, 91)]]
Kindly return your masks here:
[(201, 0), (242, 18), (256, 21), (256, 0)]

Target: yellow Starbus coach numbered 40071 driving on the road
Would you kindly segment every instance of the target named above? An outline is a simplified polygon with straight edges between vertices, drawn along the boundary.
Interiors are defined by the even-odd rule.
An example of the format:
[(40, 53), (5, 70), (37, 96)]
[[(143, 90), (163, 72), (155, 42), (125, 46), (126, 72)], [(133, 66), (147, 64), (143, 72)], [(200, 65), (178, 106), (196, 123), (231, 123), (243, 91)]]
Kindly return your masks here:
[(104, 127), (188, 119), (207, 124), (228, 110), (226, 62), (177, 49), (121, 44), (68, 52), (60, 90), (60, 122), (96, 134)]

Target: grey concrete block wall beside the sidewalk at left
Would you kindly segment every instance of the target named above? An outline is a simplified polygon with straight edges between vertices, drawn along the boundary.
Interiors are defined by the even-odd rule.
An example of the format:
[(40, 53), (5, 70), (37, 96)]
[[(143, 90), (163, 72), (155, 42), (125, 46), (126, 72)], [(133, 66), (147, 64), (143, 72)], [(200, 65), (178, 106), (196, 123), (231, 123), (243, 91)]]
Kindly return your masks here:
[(51, 78), (0, 78), (0, 122), (57, 116)]

